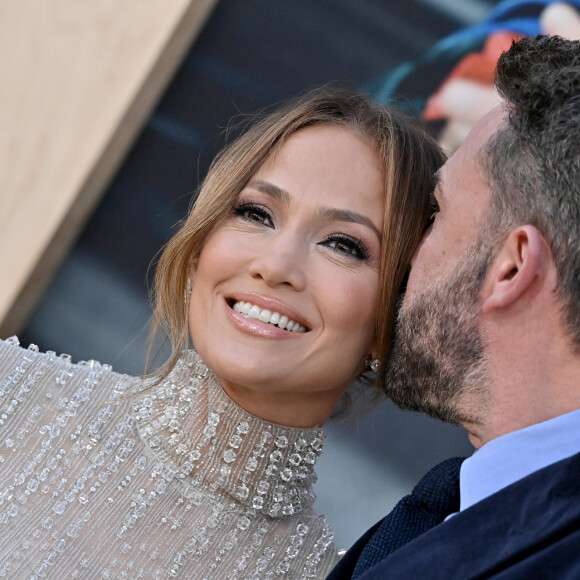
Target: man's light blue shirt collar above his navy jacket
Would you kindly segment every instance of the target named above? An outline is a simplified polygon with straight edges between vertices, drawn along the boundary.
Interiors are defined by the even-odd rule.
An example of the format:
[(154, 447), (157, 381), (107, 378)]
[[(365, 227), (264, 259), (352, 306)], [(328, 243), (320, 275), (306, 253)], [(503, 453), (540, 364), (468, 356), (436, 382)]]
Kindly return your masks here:
[(459, 511), (580, 452), (580, 409), (493, 439), (461, 466)]

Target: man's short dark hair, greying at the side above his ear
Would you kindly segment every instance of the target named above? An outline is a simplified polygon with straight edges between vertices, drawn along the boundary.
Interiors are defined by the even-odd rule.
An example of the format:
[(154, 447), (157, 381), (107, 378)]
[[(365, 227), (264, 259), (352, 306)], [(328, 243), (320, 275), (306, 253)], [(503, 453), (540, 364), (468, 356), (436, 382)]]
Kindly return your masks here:
[(525, 38), (499, 59), (507, 120), (482, 150), (488, 231), (531, 224), (554, 256), (564, 320), (580, 351), (580, 41)]

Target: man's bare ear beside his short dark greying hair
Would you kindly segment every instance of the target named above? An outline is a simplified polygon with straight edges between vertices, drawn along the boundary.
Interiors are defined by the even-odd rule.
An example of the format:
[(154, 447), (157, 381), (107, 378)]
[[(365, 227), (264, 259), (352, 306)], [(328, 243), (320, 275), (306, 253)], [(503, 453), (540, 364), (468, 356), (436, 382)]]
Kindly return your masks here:
[(511, 231), (489, 268), (491, 281), (484, 296), (483, 313), (515, 302), (534, 282), (550, 255), (544, 237), (534, 226)]

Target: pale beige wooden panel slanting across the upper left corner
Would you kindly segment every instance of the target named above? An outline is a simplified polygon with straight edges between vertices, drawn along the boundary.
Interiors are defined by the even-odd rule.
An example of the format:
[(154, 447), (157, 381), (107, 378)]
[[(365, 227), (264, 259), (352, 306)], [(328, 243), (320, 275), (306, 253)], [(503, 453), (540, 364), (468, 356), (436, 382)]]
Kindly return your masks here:
[(215, 3), (0, 0), (0, 336), (25, 323)]

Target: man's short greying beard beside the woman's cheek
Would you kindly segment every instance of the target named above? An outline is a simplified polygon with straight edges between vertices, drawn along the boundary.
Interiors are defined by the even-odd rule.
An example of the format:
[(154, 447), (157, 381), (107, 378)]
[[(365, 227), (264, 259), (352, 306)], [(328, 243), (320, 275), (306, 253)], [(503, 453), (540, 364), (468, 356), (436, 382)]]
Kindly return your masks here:
[(453, 424), (480, 422), (487, 378), (478, 317), (491, 253), (478, 240), (452, 276), (403, 302), (382, 377), (402, 409)]

